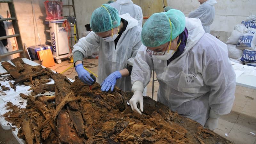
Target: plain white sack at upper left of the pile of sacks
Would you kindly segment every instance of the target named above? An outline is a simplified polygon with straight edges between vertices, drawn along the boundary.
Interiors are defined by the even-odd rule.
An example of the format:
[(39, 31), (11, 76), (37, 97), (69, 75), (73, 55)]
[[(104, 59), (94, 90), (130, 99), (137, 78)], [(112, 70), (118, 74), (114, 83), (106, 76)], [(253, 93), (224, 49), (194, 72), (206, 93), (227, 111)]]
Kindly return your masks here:
[(247, 32), (247, 28), (243, 25), (235, 25), (234, 30), (231, 32), (230, 37), (228, 37), (228, 40), (226, 44), (237, 44), (239, 37)]

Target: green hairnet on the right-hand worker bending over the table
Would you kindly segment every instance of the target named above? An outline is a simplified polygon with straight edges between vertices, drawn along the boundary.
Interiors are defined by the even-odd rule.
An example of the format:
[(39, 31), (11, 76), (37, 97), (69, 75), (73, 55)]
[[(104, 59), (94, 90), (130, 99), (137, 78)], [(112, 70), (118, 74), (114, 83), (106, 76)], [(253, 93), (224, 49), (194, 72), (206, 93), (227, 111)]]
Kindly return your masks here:
[[(172, 32), (169, 19), (172, 23)], [(144, 23), (141, 31), (141, 41), (145, 46), (157, 47), (180, 35), (185, 29), (185, 15), (179, 10), (154, 13)]]

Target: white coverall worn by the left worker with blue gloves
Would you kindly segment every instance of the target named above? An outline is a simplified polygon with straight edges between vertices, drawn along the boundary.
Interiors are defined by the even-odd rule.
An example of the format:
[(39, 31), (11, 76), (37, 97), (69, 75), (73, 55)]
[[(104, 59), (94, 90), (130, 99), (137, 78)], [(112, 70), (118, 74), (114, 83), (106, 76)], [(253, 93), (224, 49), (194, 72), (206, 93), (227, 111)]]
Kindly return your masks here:
[[(138, 21), (128, 13), (119, 16), (128, 21), (128, 25), (119, 38), (116, 49), (114, 41), (105, 42), (91, 31), (86, 37), (79, 39), (72, 51), (73, 53), (76, 51), (82, 52), (85, 58), (92, 55), (93, 49), (99, 48), (98, 82), (100, 84), (111, 73), (126, 68), (127, 64), (133, 65), (134, 58), (142, 44), (140, 40), (142, 28), (138, 26)], [(123, 91), (131, 91), (131, 76), (116, 80), (116, 86)]]

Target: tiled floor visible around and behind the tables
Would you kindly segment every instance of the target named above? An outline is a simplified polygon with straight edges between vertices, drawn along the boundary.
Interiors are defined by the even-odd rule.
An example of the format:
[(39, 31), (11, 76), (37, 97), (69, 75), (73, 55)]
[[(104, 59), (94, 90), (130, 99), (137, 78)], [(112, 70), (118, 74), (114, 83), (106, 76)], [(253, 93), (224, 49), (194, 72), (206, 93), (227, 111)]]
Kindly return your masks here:
[[(84, 64), (87, 62), (88, 65), (85, 67), (98, 75), (98, 67), (90, 68), (90, 63), (98, 65), (98, 59), (84, 60)], [(61, 73), (71, 65), (72, 64), (68, 63), (68, 60), (66, 60), (62, 61), (61, 64), (56, 64), (50, 68)], [(70, 79), (75, 79), (75, 76), (77, 75), (74, 67), (69, 68), (62, 74)], [(157, 100), (156, 95), (158, 87), (158, 82), (154, 82), (154, 100)], [(152, 78), (147, 86), (147, 96), (152, 96)], [(256, 144), (256, 135), (250, 133), (256, 133), (256, 90), (236, 86), (235, 96), (236, 99), (231, 113), (220, 117), (218, 127), (214, 132), (236, 144)], [(227, 134), (227, 136), (225, 134)], [(18, 142), (12, 136), (11, 130), (3, 130), (1, 127), (0, 144), (1, 143), (16, 144)]]

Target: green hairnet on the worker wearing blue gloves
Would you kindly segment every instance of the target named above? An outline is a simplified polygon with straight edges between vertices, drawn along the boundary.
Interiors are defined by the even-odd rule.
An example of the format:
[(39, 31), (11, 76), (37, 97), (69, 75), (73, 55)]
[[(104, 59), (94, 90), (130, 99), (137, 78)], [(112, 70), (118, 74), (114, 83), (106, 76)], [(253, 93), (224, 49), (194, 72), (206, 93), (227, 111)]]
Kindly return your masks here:
[(101, 33), (120, 25), (118, 11), (108, 4), (103, 4), (92, 12), (90, 26), (93, 32)]

